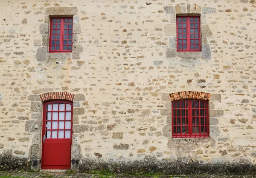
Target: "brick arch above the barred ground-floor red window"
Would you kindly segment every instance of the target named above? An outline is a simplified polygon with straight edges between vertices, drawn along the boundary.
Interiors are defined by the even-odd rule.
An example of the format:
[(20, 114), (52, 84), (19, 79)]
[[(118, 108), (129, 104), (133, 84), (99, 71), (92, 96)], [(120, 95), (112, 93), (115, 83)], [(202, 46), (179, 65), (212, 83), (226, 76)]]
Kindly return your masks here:
[(172, 101), (182, 100), (182, 99), (200, 99), (200, 100), (209, 100), (211, 94), (205, 92), (193, 92), (193, 91), (185, 91), (185, 92), (176, 92), (169, 94)]

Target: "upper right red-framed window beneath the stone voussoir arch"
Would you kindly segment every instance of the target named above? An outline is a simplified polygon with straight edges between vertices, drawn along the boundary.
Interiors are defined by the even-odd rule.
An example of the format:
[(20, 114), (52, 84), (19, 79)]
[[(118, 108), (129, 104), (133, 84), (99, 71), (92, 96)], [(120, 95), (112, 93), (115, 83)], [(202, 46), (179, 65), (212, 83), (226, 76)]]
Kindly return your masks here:
[(200, 17), (177, 17), (177, 51), (201, 51)]

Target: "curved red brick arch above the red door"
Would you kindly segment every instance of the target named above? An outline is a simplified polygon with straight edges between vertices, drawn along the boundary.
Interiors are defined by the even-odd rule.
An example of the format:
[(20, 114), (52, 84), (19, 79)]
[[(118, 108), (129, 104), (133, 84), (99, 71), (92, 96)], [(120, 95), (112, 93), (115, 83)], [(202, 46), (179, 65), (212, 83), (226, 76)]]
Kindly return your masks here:
[(47, 92), (39, 95), (41, 101), (47, 100), (70, 100), (73, 101), (75, 94), (69, 92)]

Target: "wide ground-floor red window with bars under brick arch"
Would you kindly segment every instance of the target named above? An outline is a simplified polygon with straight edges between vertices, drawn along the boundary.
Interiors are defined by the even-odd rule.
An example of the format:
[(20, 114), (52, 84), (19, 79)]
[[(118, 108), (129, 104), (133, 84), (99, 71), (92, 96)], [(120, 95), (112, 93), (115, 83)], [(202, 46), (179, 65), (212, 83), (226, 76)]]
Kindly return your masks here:
[(208, 101), (172, 101), (172, 137), (209, 137)]

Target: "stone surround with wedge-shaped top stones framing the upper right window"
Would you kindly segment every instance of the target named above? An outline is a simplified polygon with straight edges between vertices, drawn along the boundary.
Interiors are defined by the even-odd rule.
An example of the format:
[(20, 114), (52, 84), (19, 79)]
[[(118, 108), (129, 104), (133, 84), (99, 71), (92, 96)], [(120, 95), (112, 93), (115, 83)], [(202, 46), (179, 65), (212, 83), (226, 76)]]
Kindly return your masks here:
[[(180, 3), (176, 6), (165, 6), (163, 9), (166, 15), (169, 16), (170, 23), (165, 26), (165, 33), (169, 36), (169, 48), (166, 49), (166, 58), (181, 57), (181, 58), (203, 58), (210, 59), (211, 51), (207, 38), (212, 36), (212, 32), (207, 25), (208, 14), (215, 14), (216, 9), (211, 7), (201, 7), (197, 4)], [(201, 52), (177, 52), (177, 29), (176, 16), (182, 15), (200, 15), (201, 26)]]

